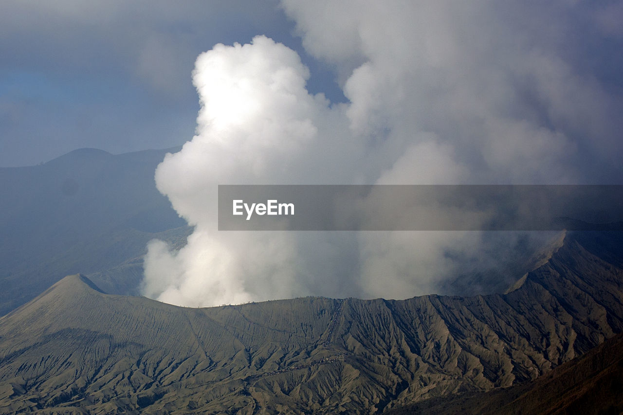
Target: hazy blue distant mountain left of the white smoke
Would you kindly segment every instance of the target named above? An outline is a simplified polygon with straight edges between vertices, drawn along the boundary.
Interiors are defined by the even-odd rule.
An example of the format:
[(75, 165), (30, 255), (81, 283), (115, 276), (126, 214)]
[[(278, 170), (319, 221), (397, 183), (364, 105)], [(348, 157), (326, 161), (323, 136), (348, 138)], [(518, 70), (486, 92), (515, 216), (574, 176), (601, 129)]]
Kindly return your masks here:
[(83, 148), (0, 168), (0, 314), (76, 272), (108, 292), (138, 293), (146, 243), (183, 243), (189, 233), (154, 181), (164, 155), (177, 150)]

